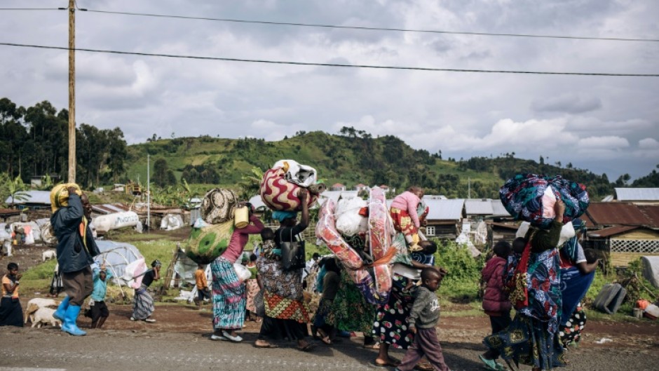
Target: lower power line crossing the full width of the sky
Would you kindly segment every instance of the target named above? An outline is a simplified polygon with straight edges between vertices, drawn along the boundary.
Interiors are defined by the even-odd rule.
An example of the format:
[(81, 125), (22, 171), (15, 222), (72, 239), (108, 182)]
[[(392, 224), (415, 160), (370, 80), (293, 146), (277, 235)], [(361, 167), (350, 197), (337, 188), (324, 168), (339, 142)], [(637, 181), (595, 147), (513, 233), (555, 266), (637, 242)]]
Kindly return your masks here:
[[(43, 46), (29, 45), (22, 43), (0, 43), (0, 46), (18, 46), (23, 48), (40, 48), (54, 50), (69, 50), (63, 46)], [(226, 62), (252, 62), (252, 63), (269, 63), (274, 65), (298, 65), (298, 66), (318, 66), (318, 67), (346, 67), (346, 68), (371, 68), (371, 69), (404, 69), (412, 71), (428, 72), (475, 72), (486, 74), (541, 74), (541, 75), (569, 75), (569, 76), (627, 76), (627, 77), (659, 77), (659, 74), (607, 74), (597, 72), (541, 72), (541, 71), (513, 71), (505, 69), (453, 69), (453, 68), (430, 68), (430, 67), (402, 67), (402, 66), (378, 66), (378, 65), (341, 65), (338, 63), (313, 63), (313, 62), (292, 62), (284, 60), (252, 60), (244, 58), (220, 58), (220, 57), (202, 57), (197, 55), (176, 55), (176, 54), (158, 54), (158, 53), (139, 53), (120, 50), (103, 50), (76, 48), (76, 51), (86, 51), (90, 53), (108, 53), (121, 55), (142, 55), (145, 57), (164, 57), (164, 58), (185, 58), (195, 60), (223, 60)]]

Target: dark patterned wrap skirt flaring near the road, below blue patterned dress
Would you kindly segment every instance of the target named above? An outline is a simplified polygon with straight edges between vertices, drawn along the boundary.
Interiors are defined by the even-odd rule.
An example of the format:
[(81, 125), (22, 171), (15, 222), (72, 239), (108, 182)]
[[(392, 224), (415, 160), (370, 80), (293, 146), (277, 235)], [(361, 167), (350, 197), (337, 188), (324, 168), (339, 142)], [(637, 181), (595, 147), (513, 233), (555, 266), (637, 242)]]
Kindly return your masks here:
[(483, 344), (501, 354), (506, 362), (522, 363), (541, 370), (563, 367), (563, 347), (557, 333), (548, 331), (548, 323), (517, 313), (507, 329), (489, 335)]

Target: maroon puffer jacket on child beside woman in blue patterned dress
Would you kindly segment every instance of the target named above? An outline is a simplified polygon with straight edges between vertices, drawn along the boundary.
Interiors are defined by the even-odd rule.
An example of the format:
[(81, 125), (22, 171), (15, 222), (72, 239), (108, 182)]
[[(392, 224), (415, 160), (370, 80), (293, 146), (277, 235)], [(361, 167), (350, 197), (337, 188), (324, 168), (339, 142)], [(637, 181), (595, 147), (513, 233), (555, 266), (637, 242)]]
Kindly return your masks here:
[(483, 281), (486, 283), (483, 295), (483, 309), (489, 315), (501, 315), (510, 311), (512, 304), (508, 295), (503, 292), (503, 269), (506, 259), (494, 255), (487, 261), (481, 271)]

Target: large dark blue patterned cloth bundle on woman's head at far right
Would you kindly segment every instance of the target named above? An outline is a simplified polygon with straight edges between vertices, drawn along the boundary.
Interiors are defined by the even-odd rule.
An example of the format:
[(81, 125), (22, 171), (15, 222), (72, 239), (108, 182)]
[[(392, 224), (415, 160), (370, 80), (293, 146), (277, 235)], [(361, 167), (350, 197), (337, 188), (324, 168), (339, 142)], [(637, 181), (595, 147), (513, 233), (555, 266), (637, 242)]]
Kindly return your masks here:
[(583, 184), (562, 177), (518, 174), (499, 190), (501, 202), (515, 220), (524, 220), (534, 227), (548, 229), (555, 219), (554, 205), (560, 198), (565, 203), (563, 222), (585, 213), (590, 204)]

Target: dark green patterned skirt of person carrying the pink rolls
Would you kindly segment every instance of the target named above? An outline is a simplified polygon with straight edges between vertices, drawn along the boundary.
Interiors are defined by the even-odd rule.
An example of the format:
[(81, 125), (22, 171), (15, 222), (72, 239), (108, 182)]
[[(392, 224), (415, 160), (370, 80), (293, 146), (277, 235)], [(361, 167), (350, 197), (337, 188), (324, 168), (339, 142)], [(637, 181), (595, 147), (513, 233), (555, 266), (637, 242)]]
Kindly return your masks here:
[(337, 296), (334, 297), (332, 308), (325, 321), (339, 330), (359, 331), (370, 336), (375, 321), (376, 306), (366, 302), (364, 295), (345, 269), (341, 270), (340, 280)]

